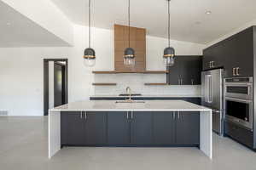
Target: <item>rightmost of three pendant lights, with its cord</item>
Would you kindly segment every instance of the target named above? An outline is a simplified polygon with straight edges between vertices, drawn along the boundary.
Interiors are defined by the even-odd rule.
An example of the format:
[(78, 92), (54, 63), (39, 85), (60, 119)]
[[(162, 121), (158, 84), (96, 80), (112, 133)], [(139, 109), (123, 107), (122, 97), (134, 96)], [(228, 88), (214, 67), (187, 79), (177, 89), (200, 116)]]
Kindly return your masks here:
[(175, 63), (175, 49), (171, 47), (171, 43), (170, 43), (170, 2), (171, 0), (167, 0), (168, 1), (168, 47), (165, 48), (164, 50), (164, 64), (166, 66), (172, 66)]

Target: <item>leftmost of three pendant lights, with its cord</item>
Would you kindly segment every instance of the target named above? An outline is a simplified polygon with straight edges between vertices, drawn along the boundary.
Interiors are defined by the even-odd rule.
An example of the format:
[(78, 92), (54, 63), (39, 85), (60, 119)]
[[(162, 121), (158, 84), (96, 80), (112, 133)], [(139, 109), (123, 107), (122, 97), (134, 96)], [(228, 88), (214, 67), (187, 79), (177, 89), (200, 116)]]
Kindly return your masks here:
[(84, 49), (84, 65), (94, 66), (96, 64), (96, 54), (93, 48), (90, 48), (90, 0), (89, 0), (89, 48)]

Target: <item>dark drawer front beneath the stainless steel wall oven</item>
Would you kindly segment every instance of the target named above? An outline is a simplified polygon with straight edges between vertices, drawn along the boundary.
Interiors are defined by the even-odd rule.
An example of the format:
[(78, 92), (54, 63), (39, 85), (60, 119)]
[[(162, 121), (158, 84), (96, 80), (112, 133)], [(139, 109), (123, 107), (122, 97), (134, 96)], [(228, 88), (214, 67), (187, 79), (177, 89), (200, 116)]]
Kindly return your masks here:
[(224, 133), (231, 138), (236, 139), (241, 144), (245, 144), (250, 148), (253, 148), (253, 132), (245, 128), (239, 127), (234, 123), (225, 122)]

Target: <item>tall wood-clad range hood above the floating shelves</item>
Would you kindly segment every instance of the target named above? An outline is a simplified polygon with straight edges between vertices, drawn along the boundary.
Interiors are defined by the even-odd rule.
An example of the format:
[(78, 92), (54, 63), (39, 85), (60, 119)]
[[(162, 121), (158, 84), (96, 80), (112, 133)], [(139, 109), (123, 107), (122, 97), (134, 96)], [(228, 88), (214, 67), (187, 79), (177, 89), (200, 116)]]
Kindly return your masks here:
[(129, 27), (114, 25), (114, 68), (119, 72), (146, 70), (146, 29), (130, 27), (130, 46), (136, 54), (135, 68), (124, 65), (124, 51), (129, 47)]

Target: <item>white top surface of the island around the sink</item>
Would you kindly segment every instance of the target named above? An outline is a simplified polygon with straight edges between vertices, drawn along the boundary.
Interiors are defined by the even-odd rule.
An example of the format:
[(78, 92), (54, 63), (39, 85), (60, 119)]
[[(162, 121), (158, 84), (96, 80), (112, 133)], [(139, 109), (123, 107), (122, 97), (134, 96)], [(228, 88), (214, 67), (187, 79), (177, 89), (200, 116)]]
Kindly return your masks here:
[(212, 111), (207, 107), (183, 100), (145, 100), (145, 103), (115, 103), (86, 100), (61, 105), (49, 111)]

